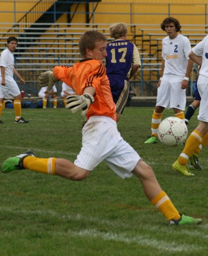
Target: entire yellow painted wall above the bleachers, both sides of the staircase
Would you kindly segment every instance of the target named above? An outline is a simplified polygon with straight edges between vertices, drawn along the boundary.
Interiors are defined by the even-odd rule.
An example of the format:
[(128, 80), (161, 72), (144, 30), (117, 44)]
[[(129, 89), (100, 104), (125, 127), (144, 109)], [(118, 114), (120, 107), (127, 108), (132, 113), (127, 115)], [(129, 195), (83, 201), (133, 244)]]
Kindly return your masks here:
[[(10, 13), (14, 9), (17, 11), (16, 21), (20, 20), (36, 2), (38, 1), (16, 0), (14, 6), (14, 1), (0, 0), (0, 22), (14, 22), (14, 13)], [(168, 11), (170, 10), (171, 16), (179, 19), (181, 24), (205, 24), (205, 12), (208, 12), (208, 7), (205, 10), (206, 3), (208, 3), (207, 0), (102, 0), (95, 10), (94, 19), (91, 19), (91, 23), (114, 23), (122, 20), (126, 23), (160, 24), (168, 16)], [(75, 10), (75, 6), (76, 4), (71, 8), (72, 11)], [(95, 6), (96, 3), (90, 3), (90, 10), (92, 11)], [(77, 12), (84, 13), (85, 5), (80, 4)], [(135, 14), (130, 16), (130, 12)], [(154, 13), (154, 15), (147, 13)], [(64, 14), (58, 22), (66, 23), (66, 15)], [(72, 23), (84, 22), (84, 14), (75, 14), (72, 20)]]

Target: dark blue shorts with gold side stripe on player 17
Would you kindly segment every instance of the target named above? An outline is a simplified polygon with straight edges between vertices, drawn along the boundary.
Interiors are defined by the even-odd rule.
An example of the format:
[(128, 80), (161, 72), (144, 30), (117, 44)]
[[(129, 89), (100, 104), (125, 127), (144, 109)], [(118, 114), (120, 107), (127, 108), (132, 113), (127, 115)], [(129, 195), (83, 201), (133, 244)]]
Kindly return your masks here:
[(122, 114), (129, 95), (129, 81), (116, 75), (109, 75), (110, 89), (116, 105), (116, 112)]

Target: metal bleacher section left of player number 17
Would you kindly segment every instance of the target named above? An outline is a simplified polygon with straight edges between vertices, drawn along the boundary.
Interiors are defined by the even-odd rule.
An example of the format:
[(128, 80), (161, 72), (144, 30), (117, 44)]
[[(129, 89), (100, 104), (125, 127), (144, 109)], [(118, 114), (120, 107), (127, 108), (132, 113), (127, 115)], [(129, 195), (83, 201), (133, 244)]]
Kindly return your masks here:
[[(0, 51), (7, 47), (9, 36), (18, 39), (18, 47), (14, 52), (15, 67), (26, 80), (27, 92), (32, 95), (37, 94), (39, 90), (36, 81), (40, 72), (57, 65), (71, 66), (74, 62), (80, 61), (78, 40), (84, 31), (94, 29), (109, 37), (109, 33), (106, 32), (108, 28), (98, 28), (97, 25), (86, 27), (87, 24), (68, 26), (63, 23), (52, 23), (51, 27), (48, 27), (49, 23), (39, 23), (40, 27), (36, 28), (31, 28), (32, 24), (29, 23), (21, 23), (21, 26), (11, 25), (0, 26)], [(44, 25), (47, 27), (44, 28)]]

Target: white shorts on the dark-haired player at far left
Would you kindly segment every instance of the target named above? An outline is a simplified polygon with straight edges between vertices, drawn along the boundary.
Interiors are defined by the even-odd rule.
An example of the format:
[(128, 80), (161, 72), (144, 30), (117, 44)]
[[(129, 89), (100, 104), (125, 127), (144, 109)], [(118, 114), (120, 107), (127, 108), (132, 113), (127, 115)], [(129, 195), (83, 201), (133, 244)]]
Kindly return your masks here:
[(5, 77), (6, 85), (1, 85), (2, 77), (0, 76), (0, 98), (16, 97), (20, 95), (20, 89), (16, 81), (11, 76)]

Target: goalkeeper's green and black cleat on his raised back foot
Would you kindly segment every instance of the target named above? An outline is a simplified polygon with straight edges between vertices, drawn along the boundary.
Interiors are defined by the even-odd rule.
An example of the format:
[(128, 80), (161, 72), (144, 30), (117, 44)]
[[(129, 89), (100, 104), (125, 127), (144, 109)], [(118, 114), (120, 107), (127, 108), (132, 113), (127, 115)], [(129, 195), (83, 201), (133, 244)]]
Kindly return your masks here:
[(16, 157), (8, 158), (5, 160), (1, 166), (1, 172), (7, 173), (10, 171), (15, 171), (15, 170), (22, 170), (24, 169), (23, 167), (23, 159), (28, 157), (28, 156), (35, 156), (35, 154), (32, 151), (27, 151), (23, 154), (20, 154)]

